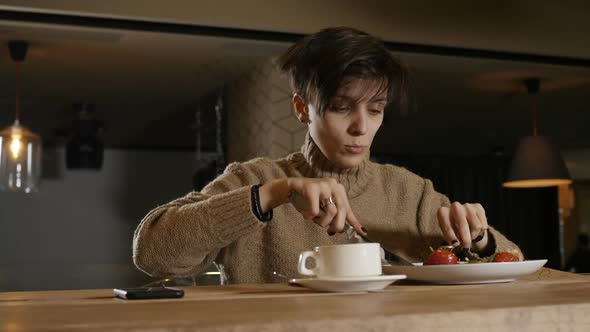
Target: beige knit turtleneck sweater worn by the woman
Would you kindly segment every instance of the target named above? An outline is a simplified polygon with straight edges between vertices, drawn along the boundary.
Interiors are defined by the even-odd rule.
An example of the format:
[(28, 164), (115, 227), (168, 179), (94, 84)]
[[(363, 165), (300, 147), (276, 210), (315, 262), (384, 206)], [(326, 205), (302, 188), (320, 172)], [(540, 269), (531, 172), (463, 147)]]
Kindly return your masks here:
[[(334, 167), (309, 137), (301, 149), (279, 160), (232, 163), (202, 192), (191, 192), (148, 213), (135, 231), (133, 259), (151, 276), (191, 276), (212, 262), (222, 264), (230, 283), (277, 282), (272, 272), (297, 275), (299, 253), (323, 244), (347, 243), (303, 219), (291, 204), (260, 222), (251, 209), (250, 187), (282, 177), (333, 177), (347, 190), (352, 210), (368, 237), (411, 261), (429, 246), (443, 244), (436, 219), (449, 200), (429, 180), (368, 159), (351, 169)], [(518, 250), (493, 228), (497, 251)], [(521, 254), (522, 256), (522, 254)]]

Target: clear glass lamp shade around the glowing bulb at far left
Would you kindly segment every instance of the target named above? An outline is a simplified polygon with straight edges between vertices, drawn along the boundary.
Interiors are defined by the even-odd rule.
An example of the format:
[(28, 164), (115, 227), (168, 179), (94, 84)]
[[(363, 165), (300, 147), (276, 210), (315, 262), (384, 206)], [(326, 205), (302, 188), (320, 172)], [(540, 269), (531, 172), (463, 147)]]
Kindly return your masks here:
[(41, 138), (16, 121), (0, 132), (0, 190), (34, 192), (41, 179)]

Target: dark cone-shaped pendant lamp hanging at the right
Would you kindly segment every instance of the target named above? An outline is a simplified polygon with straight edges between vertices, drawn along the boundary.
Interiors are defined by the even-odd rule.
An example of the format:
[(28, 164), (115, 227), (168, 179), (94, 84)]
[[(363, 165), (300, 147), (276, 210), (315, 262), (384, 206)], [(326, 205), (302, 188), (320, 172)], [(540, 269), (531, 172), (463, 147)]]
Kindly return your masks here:
[(514, 153), (507, 188), (552, 187), (572, 183), (569, 171), (559, 153), (546, 136), (537, 135), (536, 95), (539, 92), (538, 78), (524, 81), (532, 100), (533, 136), (523, 137)]

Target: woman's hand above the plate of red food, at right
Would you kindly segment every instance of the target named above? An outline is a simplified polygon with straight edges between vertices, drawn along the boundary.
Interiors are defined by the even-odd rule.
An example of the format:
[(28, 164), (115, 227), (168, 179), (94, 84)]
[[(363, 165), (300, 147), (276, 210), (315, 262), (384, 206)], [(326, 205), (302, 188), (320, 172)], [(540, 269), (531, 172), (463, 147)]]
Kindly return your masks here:
[(484, 251), (489, 242), (486, 212), (479, 203), (453, 202), (438, 209), (438, 224), (444, 239), (451, 245), (461, 245), (475, 253)]

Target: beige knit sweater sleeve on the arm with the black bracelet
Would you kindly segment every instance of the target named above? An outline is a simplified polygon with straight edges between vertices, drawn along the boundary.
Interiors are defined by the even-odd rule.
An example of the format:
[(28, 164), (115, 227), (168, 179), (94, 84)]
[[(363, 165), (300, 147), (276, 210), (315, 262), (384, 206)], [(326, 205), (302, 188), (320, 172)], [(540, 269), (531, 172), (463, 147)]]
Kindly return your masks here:
[(251, 208), (252, 167), (230, 164), (202, 192), (191, 192), (150, 211), (135, 230), (133, 261), (151, 276), (204, 271), (222, 248), (264, 227)]

